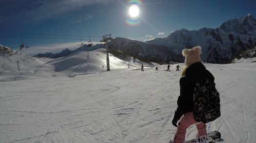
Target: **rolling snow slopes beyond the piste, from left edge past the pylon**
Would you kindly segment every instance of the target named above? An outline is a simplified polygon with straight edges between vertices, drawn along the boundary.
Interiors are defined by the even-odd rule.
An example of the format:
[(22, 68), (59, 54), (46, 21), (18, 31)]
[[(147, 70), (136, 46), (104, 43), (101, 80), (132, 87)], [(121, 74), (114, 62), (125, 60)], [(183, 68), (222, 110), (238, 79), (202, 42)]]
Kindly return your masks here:
[[(89, 59), (88, 59), (89, 54)], [(110, 69), (123, 69), (128, 67), (128, 62), (122, 61), (109, 54)], [(27, 58), (18, 53), (12, 56), (0, 56), (0, 80), (18, 80), (23, 78), (45, 77), (45, 76), (75, 76), (106, 71), (105, 49), (94, 51), (79, 51), (57, 59)], [(17, 61), (19, 61), (19, 69)], [(131, 58), (130, 68), (140, 67), (142, 62)], [(147, 64), (144, 63), (146, 66)], [(103, 68), (102, 68), (103, 66)]]

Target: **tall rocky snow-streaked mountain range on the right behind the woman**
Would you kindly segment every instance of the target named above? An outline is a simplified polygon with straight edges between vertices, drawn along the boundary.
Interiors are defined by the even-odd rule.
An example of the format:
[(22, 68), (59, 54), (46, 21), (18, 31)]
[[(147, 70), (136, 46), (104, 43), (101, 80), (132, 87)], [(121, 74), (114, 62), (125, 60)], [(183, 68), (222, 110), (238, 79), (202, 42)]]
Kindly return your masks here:
[(176, 53), (184, 48), (202, 47), (202, 60), (210, 63), (228, 63), (241, 51), (256, 45), (256, 19), (251, 14), (224, 22), (218, 28), (185, 29), (157, 38), (148, 43), (165, 45)]

